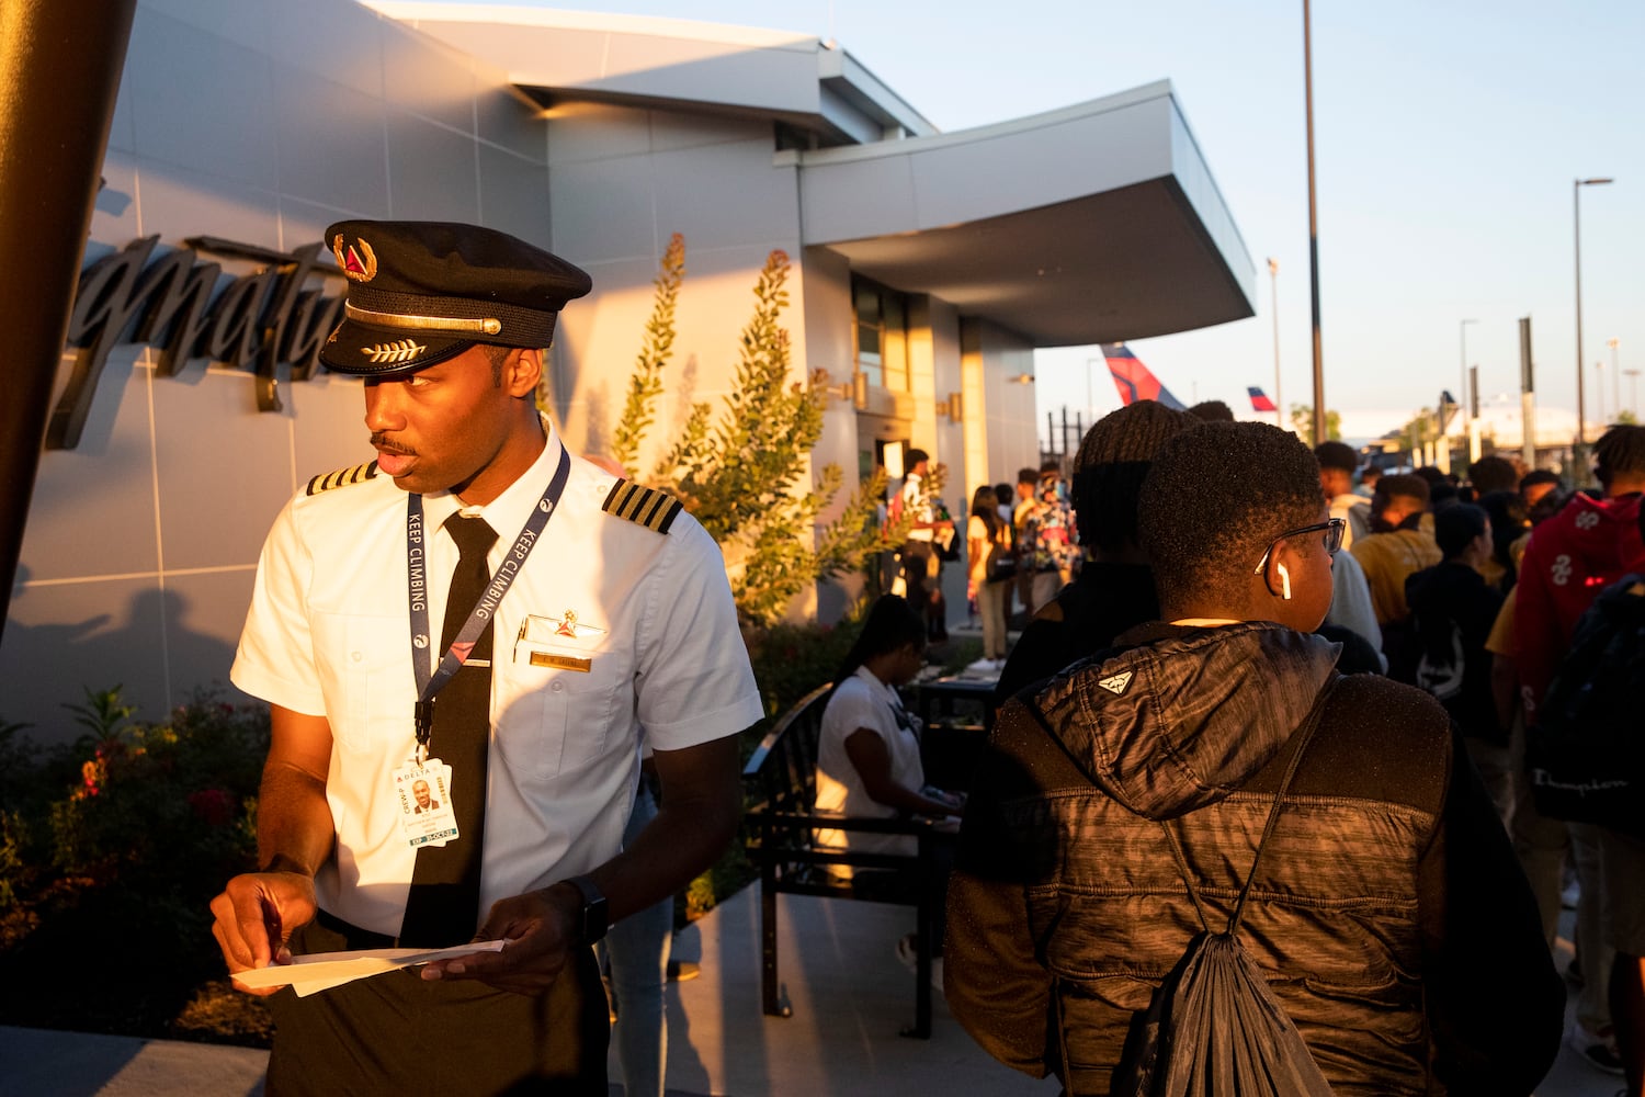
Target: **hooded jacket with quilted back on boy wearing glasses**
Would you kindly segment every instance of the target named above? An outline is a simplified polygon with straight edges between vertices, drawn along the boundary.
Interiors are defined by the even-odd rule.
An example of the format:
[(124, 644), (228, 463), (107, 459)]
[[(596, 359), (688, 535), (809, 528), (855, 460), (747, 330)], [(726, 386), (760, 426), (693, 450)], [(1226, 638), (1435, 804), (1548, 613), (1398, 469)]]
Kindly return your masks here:
[[(1224, 931), (1337, 656), (1262, 622), (1119, 643), (1000, 711), (949, 885), (949, 1008), (1073, 1094), (1201, 931), (1161, 824)], [(1431, 697), (1337, 681), (1240, 939), (1337, 1094), (1528, 1094), (1564, 990), (1490, 799)]]

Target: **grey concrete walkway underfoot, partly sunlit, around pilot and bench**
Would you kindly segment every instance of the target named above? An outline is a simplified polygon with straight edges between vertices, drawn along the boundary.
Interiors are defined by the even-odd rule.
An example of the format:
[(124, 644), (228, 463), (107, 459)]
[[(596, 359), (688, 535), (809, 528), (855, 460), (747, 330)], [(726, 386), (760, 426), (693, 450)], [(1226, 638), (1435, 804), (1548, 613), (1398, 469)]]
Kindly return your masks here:
[[(762, 1015), (758, 911), (758, 888), (745, 888), (679, 934), (674, 954), (699, 960), (702, 975), (668, 988), (670, 1094), (1058, 1092), (1054, 1081), (994, 1062), (941, 995), (929, 1041), (897, 1035), (915, 1008), (913, 975), (893, 956), (913, 928), (908, 908), (780, 896), (778, 970), (793, 1016)], [(1566, 931), (1561, 967), (1569, 962)], [(8, 1097), (253, 1095), (265, 1062), (266, 1053), (248, 1048), (0, 1026), (0, 1094)], [(610, 1077), (622, 1079), (615, 1054)], [(1564, 1048), (1536, 1097), (1612, 1097), (1620, 1087), (1620, 1077)]]

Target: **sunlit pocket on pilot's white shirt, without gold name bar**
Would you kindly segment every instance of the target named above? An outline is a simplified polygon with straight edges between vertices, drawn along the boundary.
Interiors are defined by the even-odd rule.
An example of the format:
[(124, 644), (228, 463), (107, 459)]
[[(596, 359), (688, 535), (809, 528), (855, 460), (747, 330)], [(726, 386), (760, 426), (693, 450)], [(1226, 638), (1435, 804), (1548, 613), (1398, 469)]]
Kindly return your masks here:
[[(416, 743), (416, 684), (405, 664), (411, 643), (405, 617), (316, 613), (314, 650), (332, 738), (345, 750), (405, 740)], [(419, 653), (428, 658), (428, 651)]]

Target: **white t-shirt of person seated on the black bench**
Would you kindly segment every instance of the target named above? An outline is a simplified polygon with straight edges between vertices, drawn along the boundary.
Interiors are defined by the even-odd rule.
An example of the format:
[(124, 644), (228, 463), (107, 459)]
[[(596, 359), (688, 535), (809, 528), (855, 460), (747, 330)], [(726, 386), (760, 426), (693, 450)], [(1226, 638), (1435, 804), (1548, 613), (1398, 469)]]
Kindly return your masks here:
[[(846, 740), (859, 729), (867, 729), (885, 740), (892, 757), (892, 780), (918, 789), (924, 786), (924, 765), (920, 761), (920, 717), (903, 709), (897, 691), (882, 683), (862, 666), (841, 683), (822, 711), (822, 730), (818, 735), (818, 811), (870, 819), (893, 819), (895, 808), (875, 803), (862, 783), (862, 775), (846, 753)], [(818, 831), (813, 839), (819, 847), (867, 850), (873, 854), (915, 855), (918, 840), (908, 834), (862, 834), (852, 831)], [(850, 865), (831, 865), (836, 875), (849, 877)]]

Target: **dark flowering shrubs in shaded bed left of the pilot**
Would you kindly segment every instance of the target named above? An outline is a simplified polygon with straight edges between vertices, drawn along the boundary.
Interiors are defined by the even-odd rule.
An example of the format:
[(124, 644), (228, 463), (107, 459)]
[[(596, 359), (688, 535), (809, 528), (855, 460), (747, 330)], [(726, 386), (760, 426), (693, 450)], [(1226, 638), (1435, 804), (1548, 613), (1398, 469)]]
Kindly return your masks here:
[[(212, 980), (247, 998), (227, 990), (209, 903), (255, 865), (266, 711), (199, 696), (141, 724), (118, 686), (71, 709), (86, 734), (67, 747), (0, 727), (0, 1021), (217, 1036), (178, 1020)], [(71, 975), (87, 960), (94, 992)], [(260, 1003), (227, 1010), (225, 1038), (266, 1030)]]

